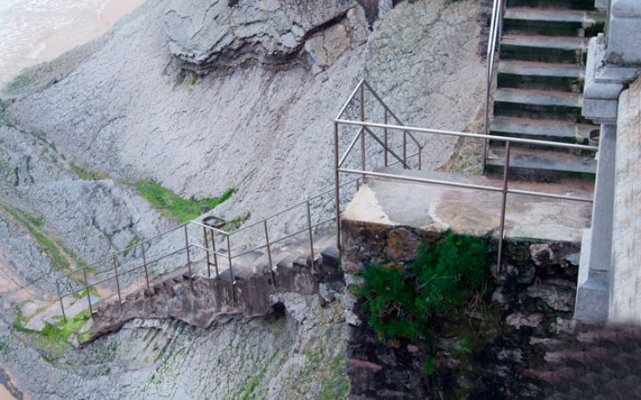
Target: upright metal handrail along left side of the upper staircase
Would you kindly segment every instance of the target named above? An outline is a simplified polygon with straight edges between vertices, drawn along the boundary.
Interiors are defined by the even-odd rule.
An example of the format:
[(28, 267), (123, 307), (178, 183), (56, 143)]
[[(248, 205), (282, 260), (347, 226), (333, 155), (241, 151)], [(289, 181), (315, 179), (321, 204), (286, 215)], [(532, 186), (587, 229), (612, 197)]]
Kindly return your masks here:
[[(494, 83), (494, 64), (496, 57), (499, 55), (499, 42), (503, 33), (503, 13), (505, 12), (505, 1), (494, 0), (492, 4), (492, 14), (490, 22), (490, 35), (488, 38), (487, 50), (487, 67), (485, 76), (485, 114), (483, 119), (483, 132), (490, 134), (490, 100)], [(483, 145), (483, 171), (485, 171), (485, 162), (487, 160), (489, 140), (485, 140)]]

